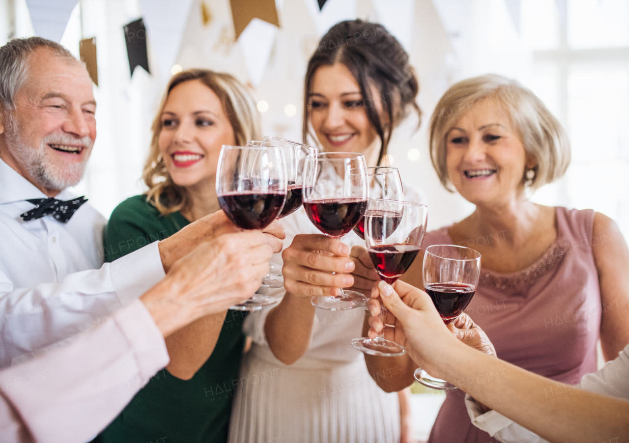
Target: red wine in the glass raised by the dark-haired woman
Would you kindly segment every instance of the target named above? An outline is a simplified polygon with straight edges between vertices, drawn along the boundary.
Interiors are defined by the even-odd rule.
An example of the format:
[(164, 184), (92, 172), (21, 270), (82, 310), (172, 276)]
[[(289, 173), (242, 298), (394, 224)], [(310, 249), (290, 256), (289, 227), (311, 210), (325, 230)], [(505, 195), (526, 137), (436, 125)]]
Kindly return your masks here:
[(304, 203), (306, 214), (317, 229), (335, 238), (352, 231), (366, 208), (366, 199), (352, 197), (316, 199)]

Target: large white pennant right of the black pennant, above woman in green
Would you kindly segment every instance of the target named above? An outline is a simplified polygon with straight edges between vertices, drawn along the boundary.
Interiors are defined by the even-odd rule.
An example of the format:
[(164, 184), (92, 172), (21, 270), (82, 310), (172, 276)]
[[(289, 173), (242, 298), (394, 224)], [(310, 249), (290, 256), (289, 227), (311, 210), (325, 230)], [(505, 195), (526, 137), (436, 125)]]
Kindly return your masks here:
[(140, 0), (142, 18), (163, 82), (170, 79), (192, 1)]

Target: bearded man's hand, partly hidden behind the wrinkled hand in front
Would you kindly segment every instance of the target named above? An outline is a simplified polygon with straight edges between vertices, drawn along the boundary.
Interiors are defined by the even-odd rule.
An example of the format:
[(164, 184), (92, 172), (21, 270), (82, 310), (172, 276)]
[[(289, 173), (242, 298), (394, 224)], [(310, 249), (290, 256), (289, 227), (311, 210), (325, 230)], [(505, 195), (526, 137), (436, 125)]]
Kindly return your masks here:
[[(199, 244), (212, 241), (223, 234), (237, 232), (245, 232), (245, 230), (235, 226), (223, 211), (216, 211), (214, 214), (209, 214), (209, 216), (189, 224), (181, 231), (159, 242), (159, 252), (164, 271), (168, 273), (170, 266), (175, 261), (186, 256)], [(265, 233), (265, 243), (269, 244), (273, 252), (277, 253), (282, 250), (281, 239), (284, 239), (286, 234), (281, 222), (274, 220), (262, 232)]]

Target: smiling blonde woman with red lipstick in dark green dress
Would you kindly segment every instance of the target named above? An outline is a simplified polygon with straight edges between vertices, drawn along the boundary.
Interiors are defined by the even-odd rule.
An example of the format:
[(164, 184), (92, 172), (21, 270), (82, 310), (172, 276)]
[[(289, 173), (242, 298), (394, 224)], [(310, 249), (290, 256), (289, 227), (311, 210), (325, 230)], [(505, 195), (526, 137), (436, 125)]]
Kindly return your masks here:
[[(255, 103), (231, 75), (192, 69), (172, 77), (153, 122), (144, 170), (148, 192), (125, 200), (111, 214), (106, 260), (220, 210), (214, 178), (221, 145), (245, 145), (259, 138)], [(238, 275), (224, 278), (235, 287), (245, 282)], [(170, 364), (98, 440), (224, 442), (245, 343), (242, 320), (240, 312), (221, 312), (168, 337)]]

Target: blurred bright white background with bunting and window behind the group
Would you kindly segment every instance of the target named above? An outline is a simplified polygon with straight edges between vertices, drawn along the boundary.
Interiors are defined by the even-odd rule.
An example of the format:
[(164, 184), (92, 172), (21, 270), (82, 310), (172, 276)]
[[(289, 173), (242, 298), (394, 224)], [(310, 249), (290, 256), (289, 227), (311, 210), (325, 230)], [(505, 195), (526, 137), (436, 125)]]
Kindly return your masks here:
[[(266, 8), (262, 18), (274, 13), (277, 23), (250, 14), (256, 2), (253, 9)], [(131, 75), (124, 27), (140, 18), (150, 73), (136, 67)], [(386, 26), (420, 78), (421, 128), (404, 122), (387, 161), (427, 195), (430, 229), (473, 210), (437, 180), (428, 156), (430, 114), (454, 82), (496, 73), (532, 89), (571, 139), (567, 174), (532, 199), (596, 209), (629, 235), (626, 0), (0, 0), (0, 45), (58, 35), (79, 57), (79, 42), (95, 38), (98, 136), (75, 192), (108, 217), (144, 190), (150, 125), (170, 75), (191, 67), (229, 72), (250, 87), (264, 134), (300, 140), (308, 58), (331, 25), (354, 18)], [(442, 395), (414, 397), (424, 438)]]

